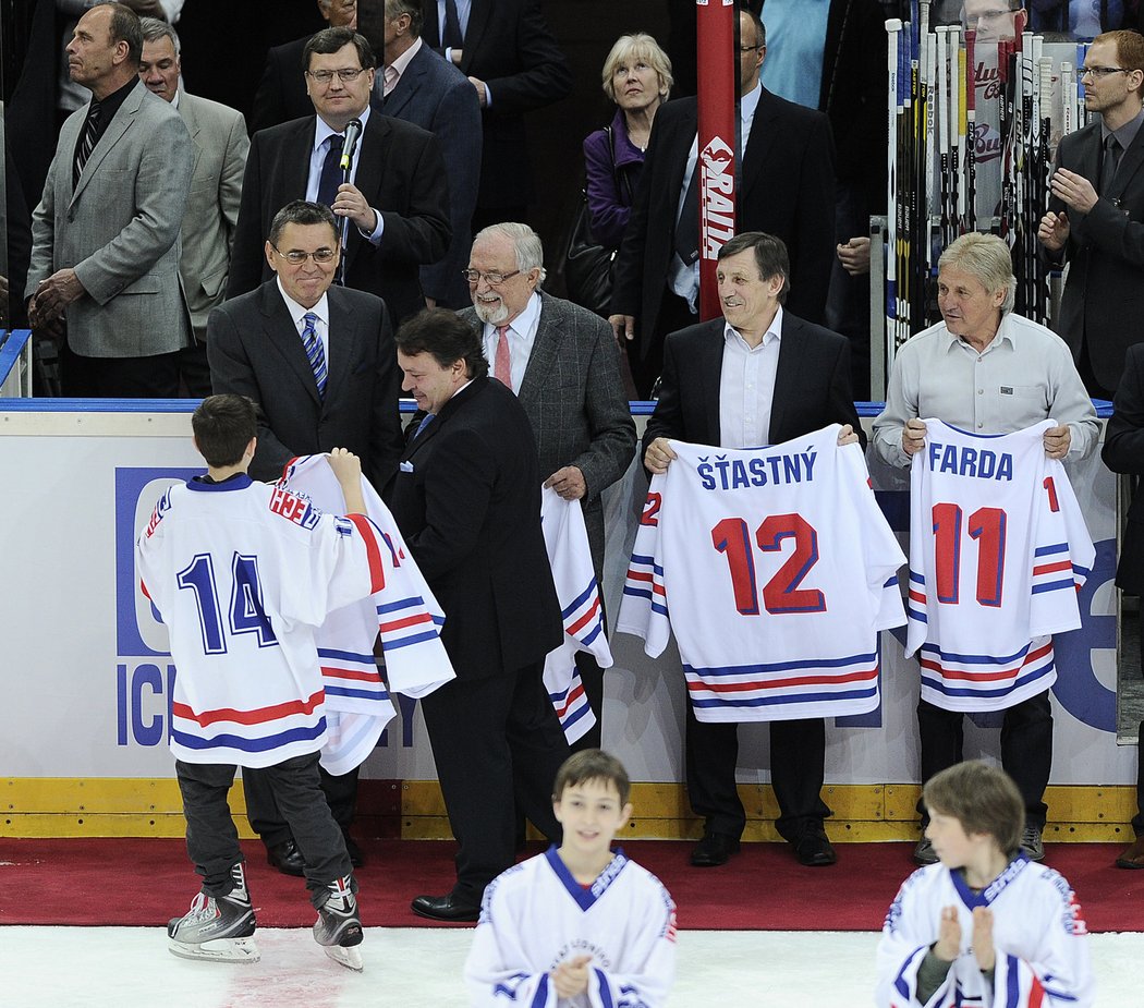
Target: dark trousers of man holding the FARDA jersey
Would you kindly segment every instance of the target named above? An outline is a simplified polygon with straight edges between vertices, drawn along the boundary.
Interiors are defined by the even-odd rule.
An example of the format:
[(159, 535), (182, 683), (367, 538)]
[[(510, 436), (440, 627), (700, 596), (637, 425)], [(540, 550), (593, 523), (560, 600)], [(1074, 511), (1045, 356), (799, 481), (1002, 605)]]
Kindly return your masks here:
[[(961, 711), (946, 711), (925, 700), (917, 701), (922, 784), (962, 761), (964, 716)], [(1044, 788), (1052, 769), (1052, 709), (1048, 690), (1006, 708), (1001, 724), (1001, 765), (1024, 799), (1025, 825), (1043, 830), (1048, 812)], [(929, 816), (921, 799), (917, 800), (917, 811), (924, 830)]]

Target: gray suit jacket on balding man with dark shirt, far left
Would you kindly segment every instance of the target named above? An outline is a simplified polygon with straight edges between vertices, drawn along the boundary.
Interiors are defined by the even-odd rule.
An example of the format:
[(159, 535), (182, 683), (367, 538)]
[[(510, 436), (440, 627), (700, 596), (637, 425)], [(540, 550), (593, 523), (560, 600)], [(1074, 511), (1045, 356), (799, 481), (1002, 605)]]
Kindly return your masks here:
[(186, 344), (178, 229), (191, 181), (191, 137), (180, 114), (140, 81), (119, 106), (72, 188), (88, 106), (64, 122), (32, 217), (25, 297), (73, 268), (87, 292), (67, 307), (67, 342), (86, 357), (150, 357)]

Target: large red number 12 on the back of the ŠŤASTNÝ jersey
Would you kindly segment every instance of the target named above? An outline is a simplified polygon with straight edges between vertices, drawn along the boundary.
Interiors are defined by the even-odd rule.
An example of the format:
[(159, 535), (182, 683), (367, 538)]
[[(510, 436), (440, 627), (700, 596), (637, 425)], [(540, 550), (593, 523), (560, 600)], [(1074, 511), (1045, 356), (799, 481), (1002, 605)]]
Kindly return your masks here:
[[(771, 515), (755, 530), (755, 542), (763, 553), (780, 551), (786, 539), (794, 539), (794, 550), (763, 585), (763, 605), (772, 614), (823, 612), (826, 596), (817, 588), (800, 587), (818, 563), (815, 526), (802, 515)], [(734, 608), (741, 616), (758, 616), (758, 585), (747, 523), (742, 518), (723, 518), (712, 529), (712, 545), (726, 557)]]

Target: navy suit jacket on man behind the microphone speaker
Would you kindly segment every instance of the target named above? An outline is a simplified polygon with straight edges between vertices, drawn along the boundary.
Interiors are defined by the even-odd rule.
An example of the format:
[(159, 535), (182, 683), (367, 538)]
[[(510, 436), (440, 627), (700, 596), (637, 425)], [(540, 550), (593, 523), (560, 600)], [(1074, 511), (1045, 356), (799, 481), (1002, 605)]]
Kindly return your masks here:
[(382, 112), (428, 129), (440, 143), (453, 237), (440, 262), (421, 267), (421, 289), (443, 308), (463, 308), (469, 303), (469, 285), (461, 270), (469, 264), (472, 211), (480, 183), (475, 168), (480, 164), (482, 144), (476, 88), (460, 70), (426, 45), (410, 61), (389, 97), (381, 98), (381, 73), (374, 88), (374, 104)]

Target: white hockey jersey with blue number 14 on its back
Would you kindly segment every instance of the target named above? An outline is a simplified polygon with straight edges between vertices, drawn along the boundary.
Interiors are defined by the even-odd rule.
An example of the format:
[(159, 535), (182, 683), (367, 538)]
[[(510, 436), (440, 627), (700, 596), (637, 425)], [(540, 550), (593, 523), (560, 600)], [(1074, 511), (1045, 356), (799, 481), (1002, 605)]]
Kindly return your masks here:
[(177, 667), (170, 749), (269, 767), (326, 740), (316, 628), (384, 586), (376, 530), (239, 475), (167, 490), (136, 543)]

